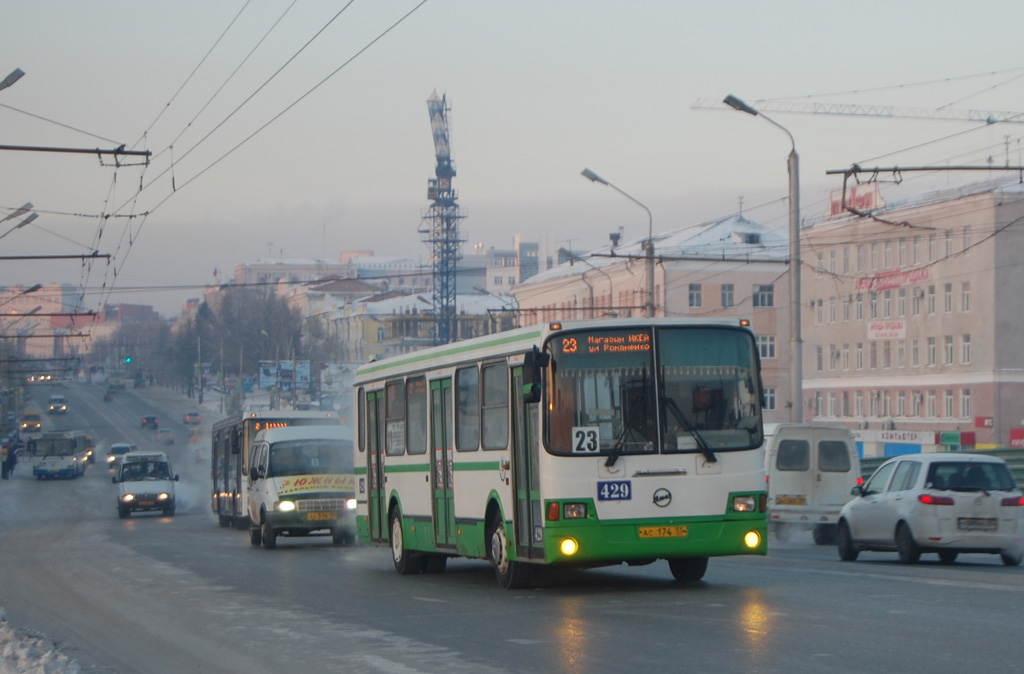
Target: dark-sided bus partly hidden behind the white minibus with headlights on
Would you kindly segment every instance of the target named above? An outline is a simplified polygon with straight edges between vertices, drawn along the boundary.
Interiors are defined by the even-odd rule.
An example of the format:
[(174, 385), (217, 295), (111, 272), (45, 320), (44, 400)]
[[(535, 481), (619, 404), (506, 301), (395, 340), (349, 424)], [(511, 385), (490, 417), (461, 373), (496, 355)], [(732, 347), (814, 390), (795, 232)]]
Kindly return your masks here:
[(256, 433), (267, 428), (338, 425), (334, 412), (249, 411), (218, 421), (211, 433), (210, 507), (221, 526), (249, 529), (249, 453)]

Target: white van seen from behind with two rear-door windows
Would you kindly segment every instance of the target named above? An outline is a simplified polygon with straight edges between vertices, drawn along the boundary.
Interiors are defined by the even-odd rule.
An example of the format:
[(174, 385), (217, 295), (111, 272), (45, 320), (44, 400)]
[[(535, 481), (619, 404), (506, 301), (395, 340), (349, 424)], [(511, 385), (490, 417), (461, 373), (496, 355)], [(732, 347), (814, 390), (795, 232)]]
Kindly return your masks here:
[(845, 426), (765, 424), (768, 522), (786, 540), (811, 530), (818, 545), (836, 543), (840, 510), (863, 481), (853, 434)]

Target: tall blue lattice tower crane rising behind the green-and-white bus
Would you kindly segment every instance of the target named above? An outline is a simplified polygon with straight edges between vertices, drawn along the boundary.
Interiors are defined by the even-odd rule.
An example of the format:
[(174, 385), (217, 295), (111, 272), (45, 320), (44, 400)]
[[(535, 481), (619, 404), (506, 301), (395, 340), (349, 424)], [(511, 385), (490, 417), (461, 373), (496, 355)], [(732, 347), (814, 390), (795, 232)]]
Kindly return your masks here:
[(449, 142), (447, 114), (451, 108), (446, 95), (438, 96), (435, 89), (427, 98), (427, 110), (434, 134), (434, 155), (437, 158), (434, 173), (437, 177), (427, 180), (427, 199), (431, 204), (423, 215), (419, 231), (423, 235), (423, 242), (430, 246), (432, 305), (437, 326), (434, 342), (446, 344), (458, 339), (456, 264), (461, 259), (459, 251), (465, 239), (459, 237), (459, 220), (463, 215), (459, 213), (458, 195), (452, 188), (455, 164), (452, 163)]

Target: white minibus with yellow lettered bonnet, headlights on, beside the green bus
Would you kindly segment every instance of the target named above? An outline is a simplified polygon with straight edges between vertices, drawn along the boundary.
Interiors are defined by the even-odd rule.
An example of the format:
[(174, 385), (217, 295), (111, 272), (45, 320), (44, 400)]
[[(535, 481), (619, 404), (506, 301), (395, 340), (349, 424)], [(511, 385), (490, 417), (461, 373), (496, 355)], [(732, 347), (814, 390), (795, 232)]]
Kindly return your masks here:
[(341, 426), (269, 428), (249, 454), (249, 541), (267, 550), (278, 536), (329, 533), (355, 540), (351, 433)]

